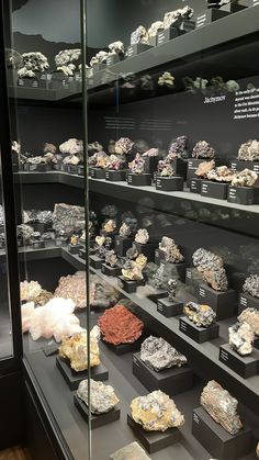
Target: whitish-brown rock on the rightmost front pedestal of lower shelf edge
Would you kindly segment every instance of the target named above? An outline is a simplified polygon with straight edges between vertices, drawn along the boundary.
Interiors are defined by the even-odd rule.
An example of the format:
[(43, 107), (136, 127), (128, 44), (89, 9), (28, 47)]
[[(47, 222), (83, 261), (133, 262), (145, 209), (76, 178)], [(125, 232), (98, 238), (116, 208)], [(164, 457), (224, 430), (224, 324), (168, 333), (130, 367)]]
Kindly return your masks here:
[(255, 335), (248, 323), (236, 323), (228, 327), (229, 345), (241, 356), (252, 352)]

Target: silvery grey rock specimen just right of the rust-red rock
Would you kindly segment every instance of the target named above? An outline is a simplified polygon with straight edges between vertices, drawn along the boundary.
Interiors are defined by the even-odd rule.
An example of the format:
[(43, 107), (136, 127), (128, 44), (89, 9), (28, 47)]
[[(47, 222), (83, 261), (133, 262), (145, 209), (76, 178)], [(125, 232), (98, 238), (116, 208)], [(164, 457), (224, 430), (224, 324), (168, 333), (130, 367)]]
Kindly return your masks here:
[(149, 336), (140, 347), (140, 359), (149, 368), (159, 372), (173, 366), (181, 367), (187, 363), (184, 355), (180, 354), (161, 337)]

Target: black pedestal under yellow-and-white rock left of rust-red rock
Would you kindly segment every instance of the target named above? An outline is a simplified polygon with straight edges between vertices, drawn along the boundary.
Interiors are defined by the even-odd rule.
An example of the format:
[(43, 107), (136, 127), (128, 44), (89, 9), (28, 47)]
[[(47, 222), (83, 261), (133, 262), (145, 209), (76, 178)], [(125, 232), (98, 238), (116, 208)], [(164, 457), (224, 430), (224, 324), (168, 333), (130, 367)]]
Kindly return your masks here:
[[(80, 371), (76, 372), (70, 368), (69, 361), (60, 358), (59, 356), (56, 358), (56, 364), (60, 373), (63, 374), (66, 383), (68, 384), (70, 390), (77, 390), (79, 383), (82, 380), (88, 379), (88, 371)], [(98, 381), (104, 381), (109, 379), (109, 373), (102, 363), (99, 366), (93, 366), (91, 368), (91, 379)]]

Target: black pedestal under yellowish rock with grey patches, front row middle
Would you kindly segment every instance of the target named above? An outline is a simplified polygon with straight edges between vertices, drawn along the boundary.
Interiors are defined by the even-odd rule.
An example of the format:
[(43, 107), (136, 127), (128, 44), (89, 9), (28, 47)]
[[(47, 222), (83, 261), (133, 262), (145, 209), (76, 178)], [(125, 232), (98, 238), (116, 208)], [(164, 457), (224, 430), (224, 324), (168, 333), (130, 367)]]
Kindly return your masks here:
[(127, 415), (127, 424), (133, 429), (136, 438), (142, 442), (148, 453), (157, 452), (180, 441), (181, 435), (178, 428), (169, 428), (165, 433), (145, 431), (139, 424), (136, 424), (131, 415)]

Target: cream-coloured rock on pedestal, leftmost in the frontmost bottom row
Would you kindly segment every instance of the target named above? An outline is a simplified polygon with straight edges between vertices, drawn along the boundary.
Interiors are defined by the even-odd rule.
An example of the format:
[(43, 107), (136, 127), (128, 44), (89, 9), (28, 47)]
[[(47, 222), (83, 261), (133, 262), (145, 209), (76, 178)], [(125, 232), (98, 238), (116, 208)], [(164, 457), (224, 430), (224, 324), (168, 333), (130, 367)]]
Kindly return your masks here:
[[(83, 380), (79, 383), (77, 395), (88, 406), (88, 380)], [(91, 413), (92, 414), (105, 414), (112, 411), (113, 407), (119, 403), (119, 399), (111, 385), (105, 385), (103, 382), (97, 382), (90, 380), (90, 401), (91, 401)]]

